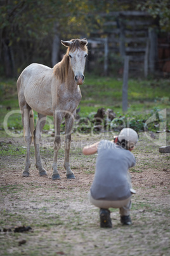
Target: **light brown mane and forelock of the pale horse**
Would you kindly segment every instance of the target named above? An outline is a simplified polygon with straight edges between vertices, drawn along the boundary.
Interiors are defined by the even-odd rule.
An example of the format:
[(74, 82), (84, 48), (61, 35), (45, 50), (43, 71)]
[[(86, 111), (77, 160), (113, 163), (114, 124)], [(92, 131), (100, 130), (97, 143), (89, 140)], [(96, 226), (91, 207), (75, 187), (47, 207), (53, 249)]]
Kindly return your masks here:
[(82, 44), (79, 39), (72, 39), (71, 41), (73, 43), (67, 48), (67, 52), (63, 56), (63, 59), (54, 66), (53, 73), (62, 83), (65, 82), (68, 75), (70, 61), (69, 52), (75, 52), (76, 49), (86, 50), (88, 52), (88, 47)]

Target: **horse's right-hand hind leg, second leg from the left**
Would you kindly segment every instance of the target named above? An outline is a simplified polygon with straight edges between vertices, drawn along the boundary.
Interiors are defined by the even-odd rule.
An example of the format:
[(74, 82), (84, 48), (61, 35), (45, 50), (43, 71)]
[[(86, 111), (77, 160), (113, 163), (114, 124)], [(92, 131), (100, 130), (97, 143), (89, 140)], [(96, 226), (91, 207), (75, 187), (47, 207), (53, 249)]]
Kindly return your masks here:
[(35, 146), (35, 155), (36, 155), (36, 167), (39, 170), (40, 176), (47, 176), (46, 170), (42, 167), (41, 157), (39, 152), (39, 141), (41, 139), (41, 132), (46, 124), (46, 116), (38, 113), (38, 121), (36, 129), (34, 131), (34, 146)]

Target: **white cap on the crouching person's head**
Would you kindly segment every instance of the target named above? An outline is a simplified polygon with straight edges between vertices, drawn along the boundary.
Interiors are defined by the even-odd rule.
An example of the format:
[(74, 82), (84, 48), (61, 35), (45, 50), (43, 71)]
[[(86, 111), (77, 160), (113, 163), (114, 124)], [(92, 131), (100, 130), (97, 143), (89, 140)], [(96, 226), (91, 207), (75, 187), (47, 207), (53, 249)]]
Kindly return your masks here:
[(118, 140), (120, 143), (123, 139), (127, 141), (128, 148), (132, 148), (138, 141), (138, 134), (131, 128), (124, 128), (118, 135)]

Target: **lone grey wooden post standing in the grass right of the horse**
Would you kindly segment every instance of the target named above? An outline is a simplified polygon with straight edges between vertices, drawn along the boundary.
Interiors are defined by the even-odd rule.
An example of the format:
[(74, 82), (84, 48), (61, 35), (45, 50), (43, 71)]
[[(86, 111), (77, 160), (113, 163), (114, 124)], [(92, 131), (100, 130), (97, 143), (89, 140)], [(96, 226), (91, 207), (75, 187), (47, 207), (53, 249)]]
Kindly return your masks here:
[(128, 75), (129, 75), (129, 56), (124, 57), (124, 73), (122, 86), (122, 111), (128, 110)]

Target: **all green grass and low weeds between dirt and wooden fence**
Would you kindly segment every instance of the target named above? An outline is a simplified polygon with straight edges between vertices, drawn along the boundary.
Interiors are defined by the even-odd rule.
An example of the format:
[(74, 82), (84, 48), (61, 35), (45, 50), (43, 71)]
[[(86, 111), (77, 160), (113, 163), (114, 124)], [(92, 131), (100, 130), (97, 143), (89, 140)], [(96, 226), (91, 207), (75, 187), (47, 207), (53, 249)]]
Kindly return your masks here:
[[(136, 131), (159, 131), (160, 123), (165, 122), (159, 115), (160, 110), (166, 109), (166, 129), (169, 131), (169, 79), (160, 80), (129, 80), (128, 92), (128, 112), (122, 113), (122, 79), (121, 78), (105, 78), (98, 76), (91, 76), (86, 74), (86, 80), (81, 85), (82, 100), (79, 104), (80, 111), (78, 113), (79, 119), (75, 122), (73, 131), (91, 132), (96, 127), (96, 120), (94, 118), (99, 108), (108, 108), (115, 113), (114, 120), (103, 119), (103, 129), (96, 127), (95, 132), (104, 131), (105, 129), (122, 129), (124, 126), (132, 127)], [(1, 124), (0, 129), (4, 134), (4, 117), (11, 110), (19, 110), (18, 96), (16, 90), (16, 80), (1, 80)], [(150, 125), (146, 126), (146, 121), (153, 114), (156, 114), (156, 120)], [(37, 113), (34, 112), (36, 123)], [(53, 120), (53, 117), (49, 117)], [(107, 123), (107, 124), (106, 124)], [(20, 132), (22, 128), (22, 119), (20, 112), (13, 114), (8, 119), (8, 128), (11, 132)], [(53, 130), (47, 122), (44, 130)], [(65, 124), (63, 122), (61, 131), (64, 132)]]

